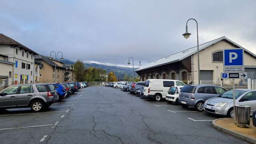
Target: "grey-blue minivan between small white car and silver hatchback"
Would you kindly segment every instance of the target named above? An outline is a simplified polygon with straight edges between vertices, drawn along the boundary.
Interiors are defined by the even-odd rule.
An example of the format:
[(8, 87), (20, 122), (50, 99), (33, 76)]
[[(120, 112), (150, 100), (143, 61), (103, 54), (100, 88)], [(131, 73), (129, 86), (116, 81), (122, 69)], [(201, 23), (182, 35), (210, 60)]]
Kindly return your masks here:
[(225, 88), (215, 85), (186, 85), (181, 88), (181, 92), (179, 93), (179, 102), (184, 108), (187, 108), (188, 106), (194, 106), (196, 110), (203, 111), (204, 102), (206, 100), (219, 96), (226, 91), (227, 90)]

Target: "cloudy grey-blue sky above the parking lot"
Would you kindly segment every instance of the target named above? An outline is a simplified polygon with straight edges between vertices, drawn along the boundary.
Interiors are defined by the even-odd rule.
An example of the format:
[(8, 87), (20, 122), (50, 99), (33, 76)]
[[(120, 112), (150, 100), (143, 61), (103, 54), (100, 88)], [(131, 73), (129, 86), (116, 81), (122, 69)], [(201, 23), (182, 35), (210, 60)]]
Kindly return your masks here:
[[(256, 54), (256, 0), (1, 0), (0, 33), (72, 61), (141, 66), (226, 36)], [(60, 55), (58, 56), (60, 57)]]

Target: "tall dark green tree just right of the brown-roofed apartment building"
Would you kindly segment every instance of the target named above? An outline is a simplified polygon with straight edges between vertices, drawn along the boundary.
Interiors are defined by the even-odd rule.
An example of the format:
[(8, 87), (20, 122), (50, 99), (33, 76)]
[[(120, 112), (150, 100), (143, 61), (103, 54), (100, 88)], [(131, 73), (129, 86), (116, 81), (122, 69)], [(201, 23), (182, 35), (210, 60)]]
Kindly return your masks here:
[(73, 74), (77, 82), (81, 82), (84, 80), (85, 66), (81, 60), (77, 60), (77, 62), (75, 62)]

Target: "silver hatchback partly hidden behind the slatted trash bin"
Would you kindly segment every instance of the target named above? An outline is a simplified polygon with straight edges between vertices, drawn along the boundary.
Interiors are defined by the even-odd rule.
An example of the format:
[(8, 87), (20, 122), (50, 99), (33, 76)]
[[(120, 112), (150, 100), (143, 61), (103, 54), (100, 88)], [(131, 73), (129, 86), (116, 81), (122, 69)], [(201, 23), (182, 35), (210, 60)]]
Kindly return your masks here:
[[(250, 114), (256, 110), (256, 90), (235, 90), (236, 104), (251, 107)], [(206, 112), (225, 115), (234, 118), (233, 90), (224, 92), (218, 97), (206, 100), (204, 110)]]

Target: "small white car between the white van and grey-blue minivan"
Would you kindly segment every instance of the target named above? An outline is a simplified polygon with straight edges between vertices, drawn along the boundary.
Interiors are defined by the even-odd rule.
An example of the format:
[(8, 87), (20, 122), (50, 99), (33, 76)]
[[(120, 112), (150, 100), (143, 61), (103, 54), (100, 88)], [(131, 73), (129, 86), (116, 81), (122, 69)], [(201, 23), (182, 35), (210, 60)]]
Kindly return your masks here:
[(182, 87), (183, 86), (172, 86), (168, 90), (168, 93), (165, 96), (165, 100), (167, 100), (168, 103), (175, 102), (176, 104), (178, 104), (179, 103), (179, 93), (180, 93)]

